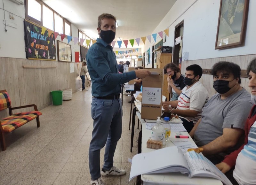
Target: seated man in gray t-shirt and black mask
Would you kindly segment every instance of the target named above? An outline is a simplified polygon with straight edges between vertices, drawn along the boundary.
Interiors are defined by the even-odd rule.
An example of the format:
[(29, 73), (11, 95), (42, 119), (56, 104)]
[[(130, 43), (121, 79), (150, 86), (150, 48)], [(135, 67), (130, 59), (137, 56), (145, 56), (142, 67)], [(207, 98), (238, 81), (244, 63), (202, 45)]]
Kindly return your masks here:
[(240, 67), (219, 62), (212, 67), (218, 92), (204, 106), (202, 118), (189, 133), (212, 163), (221, 162), (243, 142), (244, 123), (252, 108), (251, 95), (240, 86)]

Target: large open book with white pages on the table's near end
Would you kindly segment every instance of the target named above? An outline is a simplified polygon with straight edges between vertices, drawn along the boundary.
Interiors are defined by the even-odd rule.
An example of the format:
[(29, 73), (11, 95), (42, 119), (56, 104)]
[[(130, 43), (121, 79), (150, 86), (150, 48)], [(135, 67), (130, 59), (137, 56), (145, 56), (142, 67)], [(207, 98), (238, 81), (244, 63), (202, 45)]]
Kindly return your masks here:
[(132, 158), (130, 180), (140, 174), (170, 172), (187, 173), (189, 178), (211, 177), (226, 185), (232, 185), (228, 178), (202, 153), (190, 151), (183, 155), (177, 146), (135, 155)]

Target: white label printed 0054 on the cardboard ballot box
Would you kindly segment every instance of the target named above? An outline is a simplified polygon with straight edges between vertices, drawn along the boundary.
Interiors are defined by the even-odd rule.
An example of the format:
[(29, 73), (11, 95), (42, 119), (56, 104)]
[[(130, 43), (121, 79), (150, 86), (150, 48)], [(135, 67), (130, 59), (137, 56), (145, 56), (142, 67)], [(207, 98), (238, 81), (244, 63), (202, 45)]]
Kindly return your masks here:
[(161, 105), (161, 88), (143, 87), (142, 88), (142, 103)]

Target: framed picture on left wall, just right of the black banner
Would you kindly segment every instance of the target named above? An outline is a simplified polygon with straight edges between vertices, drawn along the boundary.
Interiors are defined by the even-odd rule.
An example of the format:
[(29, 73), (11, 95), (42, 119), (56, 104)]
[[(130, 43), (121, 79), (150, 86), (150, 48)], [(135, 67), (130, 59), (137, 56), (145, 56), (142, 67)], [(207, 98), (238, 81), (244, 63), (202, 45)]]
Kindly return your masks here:
[(57, 54), (58, 54), (58, 61), (72, 62), (71, 45), (57, 40)]

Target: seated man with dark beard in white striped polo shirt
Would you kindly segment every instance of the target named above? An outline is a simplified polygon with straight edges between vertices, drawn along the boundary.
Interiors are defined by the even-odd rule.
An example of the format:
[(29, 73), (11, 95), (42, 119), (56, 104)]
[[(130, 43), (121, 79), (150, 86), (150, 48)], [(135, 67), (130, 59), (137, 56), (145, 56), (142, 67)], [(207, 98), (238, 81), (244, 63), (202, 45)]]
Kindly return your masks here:
[(174, 115), (177, 114), (188, 132), (201, 118), (202, 108), (209, 98), (208, 91), (199, 81), (202, 74), (203, 70), (199, 65), (188, 66), (184, 78), (186, 87), (182, 89), (178, 100), (163, 102), (164, 110), (170, 110)]

